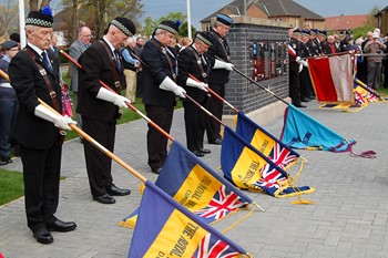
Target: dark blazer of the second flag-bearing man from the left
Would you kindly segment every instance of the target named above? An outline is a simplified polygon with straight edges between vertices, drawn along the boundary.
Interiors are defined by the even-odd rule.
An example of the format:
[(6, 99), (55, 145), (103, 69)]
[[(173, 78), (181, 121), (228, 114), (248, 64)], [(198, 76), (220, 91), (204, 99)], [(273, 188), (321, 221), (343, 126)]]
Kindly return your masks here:
[[(118, 80), (123, 80), (123, 73), (116, 69), (103, 44), (106, 43), (104, 41), (102, 43), (100, 41), (94, 42), (79, 58), (82, 69), (79, 70), (76, 112), (89, 118), (114, 122), (119, 117), (119, 107), (111, 102), (96, 99), (102, 87), (99, 81), (101, 80), (116, 91), (113, 69)], [(111, 56), (113, 58), (113, 54)]]

